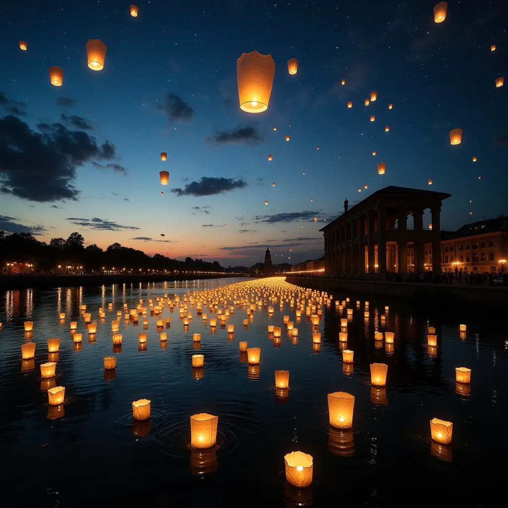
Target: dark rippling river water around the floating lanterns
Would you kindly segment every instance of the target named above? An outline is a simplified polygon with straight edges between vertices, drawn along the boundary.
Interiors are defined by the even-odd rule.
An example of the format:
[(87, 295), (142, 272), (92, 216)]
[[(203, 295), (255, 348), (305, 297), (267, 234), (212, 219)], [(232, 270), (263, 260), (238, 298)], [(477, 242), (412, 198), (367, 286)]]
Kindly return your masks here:
[[(238, 279), (240, 280), (240, 279)], [(243, 280), (243, 279), (241, 279)], [(504, 497), (506, 421), (508, 416), (508, 341), (503, 316), (474, 309), (447, 312), (413, 308), (403, 302), (351, 297), (353, 321), (347, 347), (355, 352), (352, 373), (343, 372), (335, 305), (323, 309), (321, 351), (313, 351), (312, 327), (299, 322), (289, 303), (278, 303), (269, 317), (257, 308), (244, 329), (243, 307), (235, 306), (225, 329), (211, 333), (194, 319), (183, 331), (178, 310), (171, 316), (167, 346), (148, 316), (146, 351), (138, 350), (140, 325), (120, 320), (121, 352), (113, 353), (111, 321), (123, 303), (135, 308), (140, 298), (172, 297), (187, 291), (230, 284), (236, 279), (140, 284), (136, 287), (61, 288), (8, 291), (0, 301), (0, 439), (2, 492), (6, 506), (490, 506)], [(356, 300), (360, 299), (359, 309)], [(113, 302), (109, 312), (108, 302)], [(80, 314), (86, 304), (97, 320), (93, 342)], [(389, 305), (386, 324), (379, 320)], [(99, 307), (106, 319), (99, 320)], [(176, 308), (176, 307), (175, 307)], [(208, 308), (203, 309), (208, 312)], [(58, 312), (66, 312), (64, 324)], [(293, 343), (282, 328), (280, 347), (268, 338), (267, 326), (283, 326), (290, 315), (299, 330)], [(35, 369), (22, 371), (23, 322), (34, 321)], [(75, 351), (71, 321), (83, 333)], [(466, 338), (459, 324), (467, 325)], [(427, 346), (427, 325), (436, 328), (437, 348)], [(395, 332), (393, 351), (376, 347), (374, 330)], [(192, 334), (202, 334), (203, 377), (194, 377)], [(40, 364), (48, 361), (46, 340), (59, 337), (56, 386), (65, 386), (65, 415), (51, 419)], [(259, 377), (248, 370), (238, 342), (261, 347)], [(377, 344), (379, 345), (379, 344)], [(103, 358), (115, 355), (113, 375)], [(386, 398), (370, 386), (369, 364), (388, 364)], [(470, 393), (460, 391), (455, 367), (472, 369)], [(290, 370), (287, 399), (276, 397), (274, 370)], [(467, 387), (466, 387), (467, 388)], [(352, 433), (330, 431), (327, 394), (345, 391), (356, 397)], [(135, 424), (132, 401), (151, 400), (149, 423)], [(215, 452), (199, 454), (188, 447), (189, 416), (218, 415)], [(453, 422), (453, 440), (440, 450), (430, 440), (429, 420)], [(352, 441), (351, 441), (352, 438)], [(313, 456), (313, 485), (296, 492), (288, 487), (284, 455), (301, 450)], [(447, 459), (447, 460), (443, 460)], [(10, 501), (7, 502), (6, 499)], [(503, 501), (501, 504), (505, 504)]]

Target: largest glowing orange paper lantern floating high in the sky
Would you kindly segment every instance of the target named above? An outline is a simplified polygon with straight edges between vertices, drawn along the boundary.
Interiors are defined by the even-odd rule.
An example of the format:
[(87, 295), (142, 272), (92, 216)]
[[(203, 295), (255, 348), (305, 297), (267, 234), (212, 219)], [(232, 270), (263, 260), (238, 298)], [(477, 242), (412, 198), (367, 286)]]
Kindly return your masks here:
[(268, 109), (274, 75), (275, 62), (271, 55), (262, 55), (257, 51), (242, 53), (236, 61), (241, 110), (261, 113)]

